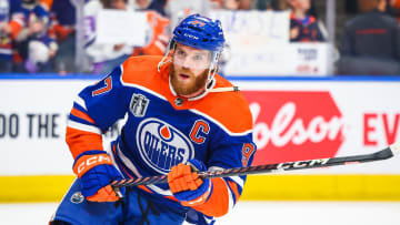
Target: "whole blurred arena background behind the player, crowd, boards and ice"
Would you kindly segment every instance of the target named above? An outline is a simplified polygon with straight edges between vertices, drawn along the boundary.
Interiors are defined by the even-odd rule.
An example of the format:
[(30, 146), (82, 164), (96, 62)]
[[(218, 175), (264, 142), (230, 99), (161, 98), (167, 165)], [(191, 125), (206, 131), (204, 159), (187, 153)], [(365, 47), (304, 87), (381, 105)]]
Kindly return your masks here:
[[(250, 104), (253, 165), (400, 140), (400, 0), (0, 0), (1, 224), (48, 221), (74, 178), (64, 130), (76, 94), (129, 57), (163, 55), (192, 13), (222, 22), (220, 74)], [(396, 212), (398, 157), (249, 176), (221, 224), (400, 224)]]

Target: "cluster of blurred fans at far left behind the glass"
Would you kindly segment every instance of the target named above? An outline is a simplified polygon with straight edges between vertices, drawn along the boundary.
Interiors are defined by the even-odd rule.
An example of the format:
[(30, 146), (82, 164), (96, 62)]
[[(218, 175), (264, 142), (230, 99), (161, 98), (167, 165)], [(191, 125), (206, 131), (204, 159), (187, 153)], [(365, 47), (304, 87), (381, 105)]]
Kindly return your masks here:
[(73, 68), (74, 24), (69, 0), (0, 0), (0, 72)]

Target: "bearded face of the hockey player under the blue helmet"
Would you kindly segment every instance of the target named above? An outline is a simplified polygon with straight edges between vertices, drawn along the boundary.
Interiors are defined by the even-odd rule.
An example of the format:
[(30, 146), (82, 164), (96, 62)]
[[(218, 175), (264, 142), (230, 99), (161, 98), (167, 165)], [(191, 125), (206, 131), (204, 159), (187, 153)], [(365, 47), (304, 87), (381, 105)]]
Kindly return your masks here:
[(210, 58), (210, 51), (177, 44), (171, 70), (171, 83), (177, 94), (192, 96), (203, 91)]

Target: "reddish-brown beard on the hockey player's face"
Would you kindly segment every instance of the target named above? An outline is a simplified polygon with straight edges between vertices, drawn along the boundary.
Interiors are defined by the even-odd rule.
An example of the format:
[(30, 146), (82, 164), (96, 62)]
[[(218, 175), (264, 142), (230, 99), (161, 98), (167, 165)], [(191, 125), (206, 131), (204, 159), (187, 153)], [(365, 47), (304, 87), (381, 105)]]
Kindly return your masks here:
[[(208, 78), (208, 71), (204, 70), (200, 75), (194, 76), (189, 70), (180, 70), (177, 71), (174, 67), (171, 68), (171, 84), (173, 90), (178, 95), (190, 95), (200, 89), (203, 89), (206, 86), (206, 81)], [(179, 80), (179, 73), (184, 73), (190, 75), (190, 82), (182, 82)]]

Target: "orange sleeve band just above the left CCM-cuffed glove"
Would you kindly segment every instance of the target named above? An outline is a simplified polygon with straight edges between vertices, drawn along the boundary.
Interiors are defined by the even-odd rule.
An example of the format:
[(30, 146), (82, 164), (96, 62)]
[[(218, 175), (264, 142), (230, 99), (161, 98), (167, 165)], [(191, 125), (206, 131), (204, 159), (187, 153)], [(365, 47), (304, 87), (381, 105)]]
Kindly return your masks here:
[(66, 142), (73, 158), (88, 150), (103, 150), (100, 134), (67, 127)]

